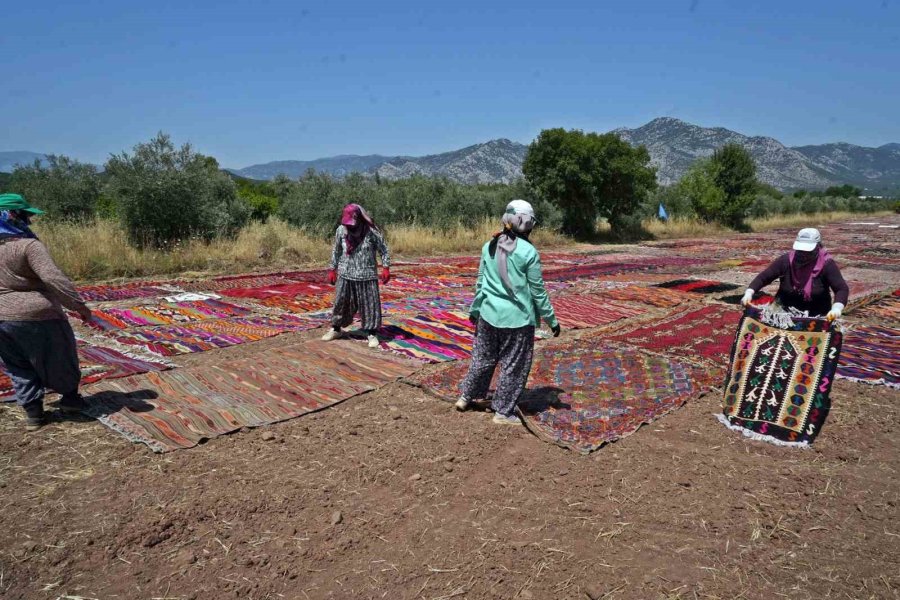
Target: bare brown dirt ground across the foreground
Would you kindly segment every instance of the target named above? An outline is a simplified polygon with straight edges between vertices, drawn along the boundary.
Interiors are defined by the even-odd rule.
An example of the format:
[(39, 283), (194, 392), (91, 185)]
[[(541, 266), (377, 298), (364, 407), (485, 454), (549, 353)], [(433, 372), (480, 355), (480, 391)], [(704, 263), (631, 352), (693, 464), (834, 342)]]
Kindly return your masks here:
[(832, 400), (808, 450), (714, 394), (586, 457), (400, 383), (165, 455), (4, 405), (0, 597), (900, 598), (900, 392)]

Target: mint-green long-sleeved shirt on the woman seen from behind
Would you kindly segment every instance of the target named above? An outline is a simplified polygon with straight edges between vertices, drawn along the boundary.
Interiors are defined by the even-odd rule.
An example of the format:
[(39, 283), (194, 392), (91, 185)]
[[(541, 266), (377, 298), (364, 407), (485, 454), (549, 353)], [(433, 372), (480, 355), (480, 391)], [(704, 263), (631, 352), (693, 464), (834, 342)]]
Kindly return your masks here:
[(503, 329), (527, 325), (537, 327), (541, 324), (541, 318), (550, 327), (555, 327), (556, 314), (544, 288), (541, 256), (535, 247), (519, 238), (515, 252), (509, 255), (507, 272), (516, 291), (515, 297), (503, 285), (497, 260), (491, 258), (489, 247), (490, 242), (481, 250), (475, 300), (470, 310), (472, 317), (481, 317), (494, 327)]

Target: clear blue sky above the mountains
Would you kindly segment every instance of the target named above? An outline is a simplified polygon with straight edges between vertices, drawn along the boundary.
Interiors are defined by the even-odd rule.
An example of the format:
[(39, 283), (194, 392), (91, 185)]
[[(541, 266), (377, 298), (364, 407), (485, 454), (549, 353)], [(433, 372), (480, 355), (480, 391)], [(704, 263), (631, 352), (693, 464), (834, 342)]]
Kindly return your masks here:
[(900, 142), (900, 0), (5, 3), (0, 150), (229, 167), (674, 116)]

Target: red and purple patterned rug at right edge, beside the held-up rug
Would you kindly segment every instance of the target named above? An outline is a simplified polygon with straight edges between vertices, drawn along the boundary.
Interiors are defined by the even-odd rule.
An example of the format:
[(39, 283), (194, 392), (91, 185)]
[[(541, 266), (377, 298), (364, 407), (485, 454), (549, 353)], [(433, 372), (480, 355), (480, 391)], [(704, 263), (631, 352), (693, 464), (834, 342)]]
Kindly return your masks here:
[(900, 329), (857, 325), (844, 336), (838, 377), (900, 388)]

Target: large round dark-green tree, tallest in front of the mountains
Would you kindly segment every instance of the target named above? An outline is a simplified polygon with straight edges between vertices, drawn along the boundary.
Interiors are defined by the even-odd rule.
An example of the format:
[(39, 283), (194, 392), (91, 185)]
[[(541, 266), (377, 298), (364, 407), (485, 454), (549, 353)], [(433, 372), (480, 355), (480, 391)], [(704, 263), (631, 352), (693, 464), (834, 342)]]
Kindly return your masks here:
[(617, 135), (545, 129), (532, 142), (522, 171), (529, 185), (560, 208), (565, 233), (594, 232), (606, 217), (614, 233), (627, 227), (647, 194), (656, 171), (644, 147), (632, 148)]

